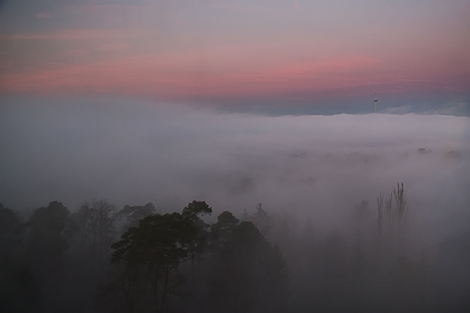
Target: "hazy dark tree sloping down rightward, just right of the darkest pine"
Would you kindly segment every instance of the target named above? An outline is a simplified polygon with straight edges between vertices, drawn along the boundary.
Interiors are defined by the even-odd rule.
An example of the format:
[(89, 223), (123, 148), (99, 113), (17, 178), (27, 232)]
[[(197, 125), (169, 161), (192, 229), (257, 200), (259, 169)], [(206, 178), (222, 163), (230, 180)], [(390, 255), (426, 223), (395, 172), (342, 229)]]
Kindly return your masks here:
[(251, 222), (225, 211), (211, 227), (212, 248), (218, 253), (211, 296), (218, 312), (281, 307), (287, 298), (287, 265), (279, 247), (268, 243)]

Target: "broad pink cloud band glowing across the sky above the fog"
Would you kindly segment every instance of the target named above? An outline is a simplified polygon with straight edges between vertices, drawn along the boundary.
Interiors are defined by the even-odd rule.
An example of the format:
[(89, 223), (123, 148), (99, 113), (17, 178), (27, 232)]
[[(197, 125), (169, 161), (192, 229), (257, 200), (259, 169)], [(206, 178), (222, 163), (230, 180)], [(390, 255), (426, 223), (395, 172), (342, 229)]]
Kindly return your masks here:
[[(134, 30), (62, 31), (21, 34), (16, 39), (89, 40), (93, 45), (65, 50), (82, 63), (57, 65), (0, 76), (0, 90), (30, 93), (138, 94), (163, 98), (274, 96), (282, 93), (346, 90), (360, 94), (380, 86), (383, 92), (401, 92), (456, 85), (455, 69), (440, 63), (400, 63), (358, 55), (296, 55), (277, 46), (220, 45), (166, 53), (127, 53), (97, 62), (93, 50), (127, 51), (122, 38), (143, 36)], [(23, 36), (23, 37), (21, 37)], [(5, 38), (3, 38), (5, 39)], [(13, 38), (10, 38), (13, 39)], [(132, 51), (131, 51), (132, 52)], [(136, 53), (136, 51), (133, 51)], [(467, 75), (463, 72), (463, 75)], [(455, 75), (454, 75), (455, 76)], [(462, 80), (461, 80), (462, 81)]]

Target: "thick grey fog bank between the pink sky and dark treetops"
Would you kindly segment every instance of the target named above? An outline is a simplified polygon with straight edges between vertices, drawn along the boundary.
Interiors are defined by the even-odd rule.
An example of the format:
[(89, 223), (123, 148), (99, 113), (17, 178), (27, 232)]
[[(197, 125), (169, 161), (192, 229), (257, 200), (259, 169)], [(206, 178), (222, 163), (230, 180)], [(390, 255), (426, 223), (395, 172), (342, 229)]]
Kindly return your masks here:
[(85, 199), (107, 198), (167, 212), (196, 199), (217, 214), (239, 214), (261, 202), (323, 229), (338, 227), (361, 200), (374, 209), (380, 191), (403, 182), (409, 218), (423, 230), (441, 235), (470, 224), (468, 117), (9, 102), (0, 107), (0, 201), (12, 209), (59, 200), (73, 211)]

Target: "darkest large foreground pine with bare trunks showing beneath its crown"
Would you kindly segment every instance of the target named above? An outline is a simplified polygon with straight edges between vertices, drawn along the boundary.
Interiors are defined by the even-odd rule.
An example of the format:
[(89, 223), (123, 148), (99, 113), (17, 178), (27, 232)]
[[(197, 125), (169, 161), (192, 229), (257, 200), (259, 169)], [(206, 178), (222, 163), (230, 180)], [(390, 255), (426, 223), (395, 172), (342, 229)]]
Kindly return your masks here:
[[(153, 309), (163, 312), (168, 294), (175, 293), (183, 282), (178, 272), (180, 264), (190, 259), (191, 242), (196, 229), (191, 220), (180, 213), (147, 216), (137, 227), (129, 228), (121, 240), (111, 247), (111, 263), (124, 265), (124, 274), (134, 277), (128, 286), (149, 285), (153, 296)], [(141, 280), (141, 281), (138, 281)], [(134, 288), (133, 292), (136, 292)], [(141, 290), (145, 290), (142, 287)], [(141, 296), (121, 290), (130, 299), (129, 306), (136, 309), (135, 301)], [(138, 308), (137, 308), (138, 309)]]

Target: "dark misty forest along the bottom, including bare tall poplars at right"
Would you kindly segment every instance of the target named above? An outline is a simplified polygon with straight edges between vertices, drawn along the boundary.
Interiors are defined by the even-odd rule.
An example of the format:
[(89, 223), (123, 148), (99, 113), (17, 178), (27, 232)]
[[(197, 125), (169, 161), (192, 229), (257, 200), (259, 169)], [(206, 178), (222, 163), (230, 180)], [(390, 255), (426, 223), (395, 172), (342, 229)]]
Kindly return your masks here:
[(0, 312), (469, 311), (469, 233), (420, 244), (403, 184), (325, 233), (261, 203), (210, 214), (204, 201), (0, 204)]

